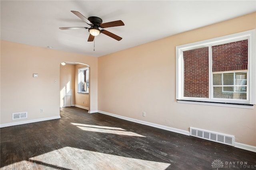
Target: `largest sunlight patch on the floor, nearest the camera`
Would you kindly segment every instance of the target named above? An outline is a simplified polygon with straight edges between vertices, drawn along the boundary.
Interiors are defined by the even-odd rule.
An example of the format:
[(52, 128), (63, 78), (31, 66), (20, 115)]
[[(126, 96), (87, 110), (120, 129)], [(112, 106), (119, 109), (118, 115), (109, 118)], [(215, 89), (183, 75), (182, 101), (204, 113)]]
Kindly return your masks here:
[(64, 147), (29, 159), (34, 164), (65, 170), (165, 170), (169, 163), (116, 156), (90, 150)]

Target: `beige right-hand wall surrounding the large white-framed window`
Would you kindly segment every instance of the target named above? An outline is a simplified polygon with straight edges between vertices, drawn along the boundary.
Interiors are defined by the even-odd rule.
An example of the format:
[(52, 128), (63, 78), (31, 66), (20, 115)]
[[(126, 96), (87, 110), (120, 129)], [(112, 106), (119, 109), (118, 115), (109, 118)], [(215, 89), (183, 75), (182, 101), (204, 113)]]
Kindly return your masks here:
[[(98, 59), (98, 110), (189, 131), (234, 135), (256, 146), (256, 108), (177, 103), (175, 47), (256, 29), (256, 13), (119, 51)], [(142, 117), (146, 111), (146, 117)]]

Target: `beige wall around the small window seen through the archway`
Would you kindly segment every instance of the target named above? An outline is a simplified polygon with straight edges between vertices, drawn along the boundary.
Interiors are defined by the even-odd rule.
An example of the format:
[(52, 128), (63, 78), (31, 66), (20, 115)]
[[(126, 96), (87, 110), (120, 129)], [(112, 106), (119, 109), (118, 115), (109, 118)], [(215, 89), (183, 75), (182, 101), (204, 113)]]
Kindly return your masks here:
[[(86, 65), (83, 64), (76, 64), (75, 66), (75, 100), (76, 100), (76, 105), (82, 106), (82, 107), (89, 107), (90, 100), (89, 100), (89, 95), (90, 95), (90, 86), (89, 86), (89, 94), (85, 93), (78, 93), (78, 68), (83, 68), (86, 67)], [(89, 67), (89, 82), (90, 82), (90, 67)]]

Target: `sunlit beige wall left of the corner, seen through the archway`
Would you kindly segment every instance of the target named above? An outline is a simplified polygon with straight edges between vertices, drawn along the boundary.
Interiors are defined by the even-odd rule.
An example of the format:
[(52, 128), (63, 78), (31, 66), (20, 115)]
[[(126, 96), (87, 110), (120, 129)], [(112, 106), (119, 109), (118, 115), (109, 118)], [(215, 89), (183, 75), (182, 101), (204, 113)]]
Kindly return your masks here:
[(75, 104), (75, 65), (60, 64), (60, 107), (64, 106), (65, 90), (72, 91), (72, 104)]

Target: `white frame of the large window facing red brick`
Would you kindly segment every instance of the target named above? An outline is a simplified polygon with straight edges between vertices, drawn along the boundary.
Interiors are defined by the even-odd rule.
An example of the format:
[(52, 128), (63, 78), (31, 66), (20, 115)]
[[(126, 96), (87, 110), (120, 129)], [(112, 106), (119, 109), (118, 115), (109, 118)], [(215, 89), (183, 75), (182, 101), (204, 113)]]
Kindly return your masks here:
[[(229, 42), (241, 41), (248, 39), (248, 71), (247, 72), (247, 100), (237, 99), (215, 99), (213, 98), (213, 86), (212, 86), (212, 52), (211, 47), (214, 45), (221, 45)], [(184, 97), (184, 61), (183, 51), (192, 49), (198, 49), (208, 47), (209, 49), (209, 98), (189, 98)], [(256, 104), (256, 30), (252, 29), (240, 33), (208, 39), (204, 41), (198, 41), (195, 43), (189, 43), (186, 45), (176, 46), (176, 100), (182, 103), (194, 103), (194, 104), (207, 104), (224, 106), (223, 104), (231, 104), (231, 107), (243, 107), (242, 105)], [(245, 71), (245, 70), (244, 70)], [(186, 102), (188, 101), (188, 102)], [(233, 106), (234, 104), (240, 104), (241, 106)], [(227, 105), (226, 105), (227, 106)]]

